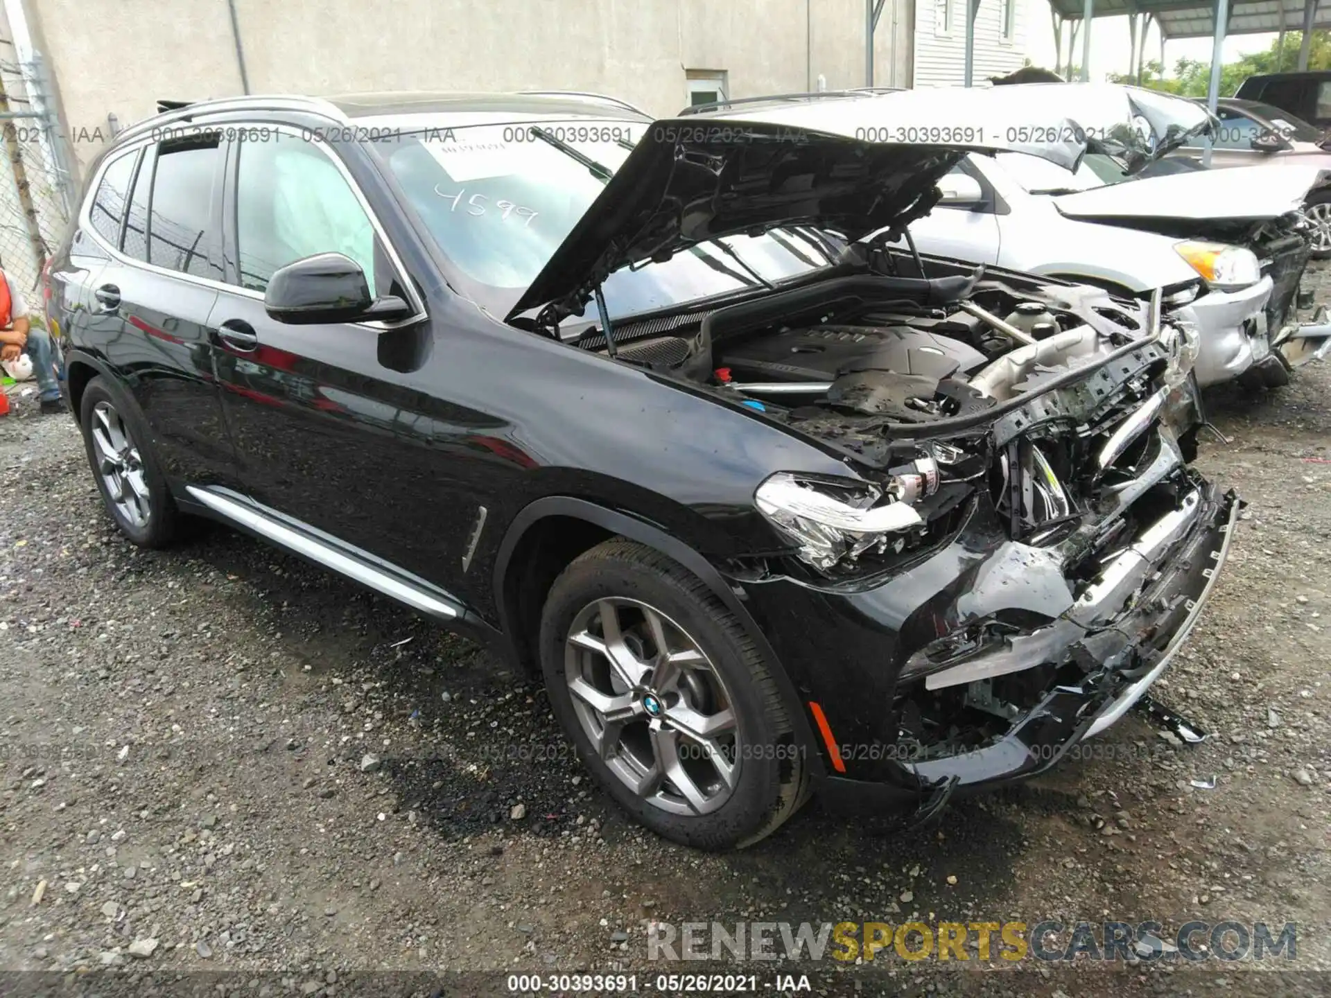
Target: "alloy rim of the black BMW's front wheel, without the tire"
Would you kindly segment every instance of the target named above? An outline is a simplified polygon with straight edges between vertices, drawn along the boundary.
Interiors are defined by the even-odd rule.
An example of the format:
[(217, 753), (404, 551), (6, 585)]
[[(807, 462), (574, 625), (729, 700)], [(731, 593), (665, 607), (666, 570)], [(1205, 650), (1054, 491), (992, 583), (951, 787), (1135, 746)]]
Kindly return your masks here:
[(646, 603), (604, 597), (564, 645), (574, 712), (606, 766), (675, 814), (708, 814), (739, 784), (735, 705), (699, 643)]

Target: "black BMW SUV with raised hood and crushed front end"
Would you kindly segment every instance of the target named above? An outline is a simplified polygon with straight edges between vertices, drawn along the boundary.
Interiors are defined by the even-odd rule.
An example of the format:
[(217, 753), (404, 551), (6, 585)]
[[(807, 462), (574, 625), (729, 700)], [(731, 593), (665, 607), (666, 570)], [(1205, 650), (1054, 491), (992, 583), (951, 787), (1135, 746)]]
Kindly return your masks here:
[[(1041, 154), (1205, 125), (1101, 90), (1122, 120)], [(1163, 671), (1236, 502), (1175, 439), (1195, 343), (1158, 298), (893, 249), (965, 152), (1022, 148), (996, 100), (145, 121), (49, 267), (106, 508), (146, 547), (222, 520), (543, 673), (691, 845), (813, 789), (909, 812), (1041, 772)], [(968, 113), (994, 128), (904, 126)]]

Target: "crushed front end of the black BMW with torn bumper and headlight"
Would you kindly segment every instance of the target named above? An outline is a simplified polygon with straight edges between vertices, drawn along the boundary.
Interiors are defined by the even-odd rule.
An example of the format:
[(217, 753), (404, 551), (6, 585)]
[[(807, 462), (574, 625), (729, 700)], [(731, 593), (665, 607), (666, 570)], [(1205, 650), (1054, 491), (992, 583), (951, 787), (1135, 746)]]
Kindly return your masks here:
[[(1012, 290), (1010, 279), (980, 281), (956, 313), (1001, 329), (989, 309), (965, 305)], [(1067, 307), (1053, 303), (1059, 295)], [(805, 688), (836, 732), (833, 806), (928, 809), (1053, 765), (1145, 695), (1225, 562), (1240, 503), (1187, 467), (1171, 426), (1183, 333), (1159, 322), (1158, 298), (1135, 315), (1082, 289), (1047, 286), (1038, 301), (1057, 329), (977, 369), (956, 365), (962, 350), (941, 337), (918, 341), (946, 363), (898, 358), (896, 374), (866, 381), (874, 365), (852, 363), (819, 385), (820, 399), (773, 414), (881, 468), (864, 472), (876, 483), (866, 495), (769, 479), (759, 508), (797, 554), (735, 572), (772, 608), (783, 651), (820, 656)], [(960, 325), (934, 329), (948, 322)], [(860, 381), (837, 389), (844, 378)], [(813, 496), (841, 506), (831, 516)], [(811, 620), (836, 635), (836, 651), (807, 632)], [(872, 656), (858, 668), (873, 676), (853, 697), (828, 675), (853, 673), (833, 665), (851, 655)]]

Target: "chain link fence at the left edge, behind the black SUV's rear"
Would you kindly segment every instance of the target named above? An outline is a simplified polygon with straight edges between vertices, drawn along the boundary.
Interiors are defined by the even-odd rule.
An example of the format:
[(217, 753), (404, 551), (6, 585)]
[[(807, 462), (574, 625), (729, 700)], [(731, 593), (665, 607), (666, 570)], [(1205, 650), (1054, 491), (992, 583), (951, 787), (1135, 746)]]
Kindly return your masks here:
[(40, 56), (0, 39), (0, 267), (32, 311), (41, 269), (73, 210), (69, 154)]

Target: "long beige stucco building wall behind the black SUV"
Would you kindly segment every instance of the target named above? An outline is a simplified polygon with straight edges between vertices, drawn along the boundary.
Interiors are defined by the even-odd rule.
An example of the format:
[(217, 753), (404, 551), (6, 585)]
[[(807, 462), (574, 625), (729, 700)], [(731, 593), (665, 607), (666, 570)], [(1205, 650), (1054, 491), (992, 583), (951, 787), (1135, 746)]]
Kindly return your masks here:
[[(23, 0), (80, 162), (106, 116), (242, 93), (228, 0)], [(236, 0), (250, 92), (586, 89), (656, 114), (688, 69), (732, 97), (864, 84), (864, 0)], [(909, 83), (912, 0), (890, 0), (876, 83)]]

